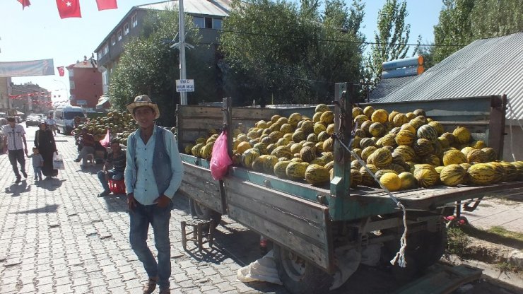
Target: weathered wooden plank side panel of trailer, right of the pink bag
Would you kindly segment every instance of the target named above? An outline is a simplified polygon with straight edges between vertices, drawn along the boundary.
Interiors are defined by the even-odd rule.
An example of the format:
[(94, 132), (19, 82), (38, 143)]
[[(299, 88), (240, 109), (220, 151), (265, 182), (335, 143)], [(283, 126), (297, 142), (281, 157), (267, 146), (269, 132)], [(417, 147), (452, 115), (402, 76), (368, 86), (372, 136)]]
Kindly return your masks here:
[(238, 177), (223, 182), (230, 218), (327, 272), (334, 269), (327, 207)]

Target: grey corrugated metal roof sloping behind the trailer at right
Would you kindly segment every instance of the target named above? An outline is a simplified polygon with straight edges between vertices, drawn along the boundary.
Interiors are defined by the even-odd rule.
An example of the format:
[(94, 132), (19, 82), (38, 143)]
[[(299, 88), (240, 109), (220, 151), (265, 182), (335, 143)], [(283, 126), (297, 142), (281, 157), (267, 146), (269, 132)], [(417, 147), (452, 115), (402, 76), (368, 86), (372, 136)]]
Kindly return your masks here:
[(503, 94), (507, 119), (523, 119), (523, 33), (476, 40), (379, 102)]

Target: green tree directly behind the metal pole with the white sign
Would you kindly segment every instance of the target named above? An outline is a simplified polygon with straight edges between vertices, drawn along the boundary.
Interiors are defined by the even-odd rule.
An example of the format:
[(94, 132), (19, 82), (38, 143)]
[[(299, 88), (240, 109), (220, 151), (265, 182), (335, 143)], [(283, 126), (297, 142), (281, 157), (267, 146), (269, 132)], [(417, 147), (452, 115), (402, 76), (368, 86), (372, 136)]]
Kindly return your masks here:
[[(208, 61), (208, 48), (199, 46), (199, 30), (187, 17), (187, 42), (195, 49), (186, 50), (187, 76), (195, 80), (195, 92), (191, 102), (209, 100), (216, 93), (213, 81), (214, 69)], [(111, 103), (117, 110), (125, 110), (125, 105), (136, 95), (147, 94), (160, 107), (160, 124), (175, 124), (175, 105), (179, 101), (175, 80), (180, 78), (179, 51), (173, 49), (173, 38), (177, 34), (178, 13), (167, 10), (150, 13), (144, 23), (143, 34), (127, 42), (117, 68), (111, 76), (109, 88)], [(210, 85), (210, 86), (208, 86)]]

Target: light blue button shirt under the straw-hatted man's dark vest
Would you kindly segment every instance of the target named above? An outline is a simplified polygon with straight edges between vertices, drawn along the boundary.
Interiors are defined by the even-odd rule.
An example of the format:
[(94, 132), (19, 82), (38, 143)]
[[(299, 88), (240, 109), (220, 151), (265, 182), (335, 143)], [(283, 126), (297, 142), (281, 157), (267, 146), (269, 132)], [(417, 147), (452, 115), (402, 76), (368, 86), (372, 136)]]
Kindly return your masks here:
[[(143, 143), (143, 140), (140, 136), (136, 136), (136, 159), (134, 160), (136, 164), (136, 184), (134, 186), (134, 191), (129, 191), (127, 185), (127, 193), (134, 193), (134, 199), (143, 205), (152, 205), (155, 204), (155, 199), (160, 195), (158, 194), (158, 187), (156, 186), (156, 181), (153, 172), (153, 155), (154, 147), (156, 145), (156, 130), (153, 131), (153, 136), (149, 138), (147, 143)], [(165, 149), (169, 154), (171, 167), (172, 168), (172, 178), (167, 190), (165, 190), (165, 196), (168, 196), (170, 199), (175, 195), (175, 192), (180, 187), (183, 177), (183, 165), (182, 158), (180, 158), (180, 153), (178, 153), (178, 146), (175, 139), (175, 136), (166, 136), (165, 138)], [(129, 153), (127, 153), (129, 155)], [(127, 158), (129, 160), (130, 158)]]

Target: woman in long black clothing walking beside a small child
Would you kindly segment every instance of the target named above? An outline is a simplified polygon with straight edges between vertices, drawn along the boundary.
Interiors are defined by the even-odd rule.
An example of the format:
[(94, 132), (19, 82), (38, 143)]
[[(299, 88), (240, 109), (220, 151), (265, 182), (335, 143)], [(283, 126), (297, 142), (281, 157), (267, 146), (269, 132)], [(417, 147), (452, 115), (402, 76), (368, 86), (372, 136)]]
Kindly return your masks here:
[(57, 144), (54, 141), (52, 131), (47, 128), (45, 122), (38, 124), (38, 129), (35, 133), (35, 147), (38, 148), (42, 158), (44, 158), (44, 166), (42, 167), (42, 174), (45, 175), (45, 180), (58, 175), (58, 170), (53, 167), (54, 153), (57, 153)]

